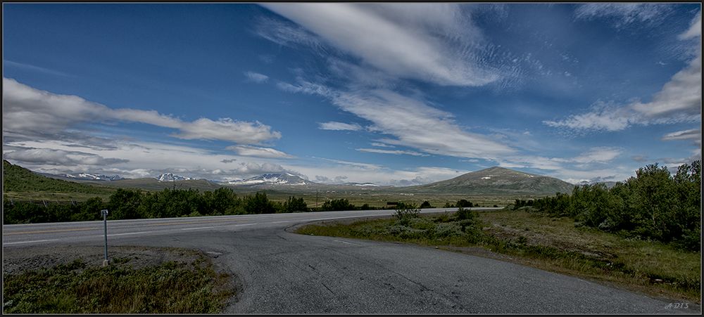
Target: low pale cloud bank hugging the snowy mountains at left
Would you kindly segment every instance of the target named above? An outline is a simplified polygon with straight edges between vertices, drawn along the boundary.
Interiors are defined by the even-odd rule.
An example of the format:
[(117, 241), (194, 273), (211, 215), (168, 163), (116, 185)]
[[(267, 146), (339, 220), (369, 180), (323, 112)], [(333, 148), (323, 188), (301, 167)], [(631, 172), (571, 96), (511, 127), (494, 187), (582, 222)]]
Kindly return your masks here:
[[(94, 148), (67, 141), (6, 142), (3, 156), (37, 172), (99, 172), (127, 178), (153, 177), (182, 171), (196, 179), (243, 179), (265, 172), (291, 172), (268, 158), (233, 157), (187, 145), (113, 140), (110, 147)], [(32, 153), (37, 149), (39, 153)], [(15, 154), (13, 152), (21, 151)], [(9, 154), (9, 156), (8, 156)], [(21, 155), (20, 155), (21, 154)], [(103, 158), (117, 157), (117, 158)], [(110, 167), (106, 166), (110, 164)]]

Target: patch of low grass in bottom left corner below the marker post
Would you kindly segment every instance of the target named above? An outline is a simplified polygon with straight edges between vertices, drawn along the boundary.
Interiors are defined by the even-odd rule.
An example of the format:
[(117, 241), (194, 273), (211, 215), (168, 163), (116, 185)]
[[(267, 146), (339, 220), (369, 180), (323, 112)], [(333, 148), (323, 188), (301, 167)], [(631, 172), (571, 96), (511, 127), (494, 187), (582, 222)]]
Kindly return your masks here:
[(77, 259), (4, 276), (3, 313), (220, 313), (234, 294), (227, 274), (203, 257), (139, 269), (129, 261), (101, 267)]

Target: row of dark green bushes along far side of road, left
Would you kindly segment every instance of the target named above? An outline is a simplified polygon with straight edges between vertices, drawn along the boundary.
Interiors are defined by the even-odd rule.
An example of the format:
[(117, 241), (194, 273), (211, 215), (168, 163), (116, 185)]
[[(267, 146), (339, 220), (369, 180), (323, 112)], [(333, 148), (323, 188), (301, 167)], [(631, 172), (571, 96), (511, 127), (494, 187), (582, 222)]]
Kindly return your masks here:
[(5, 198), (3, 204), (5, 224), (101, 220), (101, 209), (110, 211), (109, 220), (379, 209), (366, 204), (356, 207), (342, 198), (327, 200), (322, 207), (312, 209), (303, 198), (289, 196), (287, 200), (277, 202), (270, 200), (264, 192), (239, 196), (225, 187), (206, 192), (170, 188), (149, 192), (118, 188), (107, 200), (94, 197), (82, 202), (37, 204)]

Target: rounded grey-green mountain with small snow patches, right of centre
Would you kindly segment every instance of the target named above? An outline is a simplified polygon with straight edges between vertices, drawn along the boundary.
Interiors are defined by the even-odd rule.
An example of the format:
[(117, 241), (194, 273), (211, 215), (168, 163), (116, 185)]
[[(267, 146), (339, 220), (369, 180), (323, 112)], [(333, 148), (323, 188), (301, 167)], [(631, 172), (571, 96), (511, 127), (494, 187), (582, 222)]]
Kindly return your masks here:
[(574, 185), (553, 177), (529, 174), (490, 167), (448, 179), (419, 186), (394, 188), (404, 193), (457, 193), (457, 194), (532, 194), (554, 195), (572, 193)]

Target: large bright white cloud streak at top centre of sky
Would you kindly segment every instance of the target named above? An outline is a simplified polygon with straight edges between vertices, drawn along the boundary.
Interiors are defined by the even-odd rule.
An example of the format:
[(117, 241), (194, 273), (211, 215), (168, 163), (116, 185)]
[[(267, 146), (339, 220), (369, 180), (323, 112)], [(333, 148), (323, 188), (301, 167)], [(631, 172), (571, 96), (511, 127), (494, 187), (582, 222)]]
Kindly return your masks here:
[[(479, 30), (456, 4), (263, 4), (341, 51), (396, 77), (450, 86), (482, 86), (500, 79), (470, 49)], [(279, 43), (318, 44), (292, 27), (260, 32)], [(306, 34), (306, 33), (304, 33)], [(360, 36), (364, 34), (364, 36)], [(453, 45), (454, 44), (454, 45)]]

